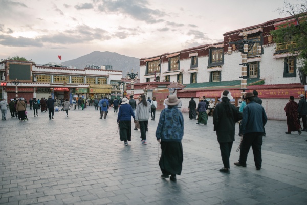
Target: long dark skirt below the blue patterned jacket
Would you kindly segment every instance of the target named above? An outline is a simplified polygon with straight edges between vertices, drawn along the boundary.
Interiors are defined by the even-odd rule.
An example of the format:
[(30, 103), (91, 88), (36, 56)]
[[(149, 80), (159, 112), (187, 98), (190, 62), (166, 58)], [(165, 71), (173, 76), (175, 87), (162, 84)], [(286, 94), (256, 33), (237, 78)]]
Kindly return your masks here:
[(162, 174), (181, 174), (183, 150), (181, 142), (161, 141), (161, 158), (159, 161)]

